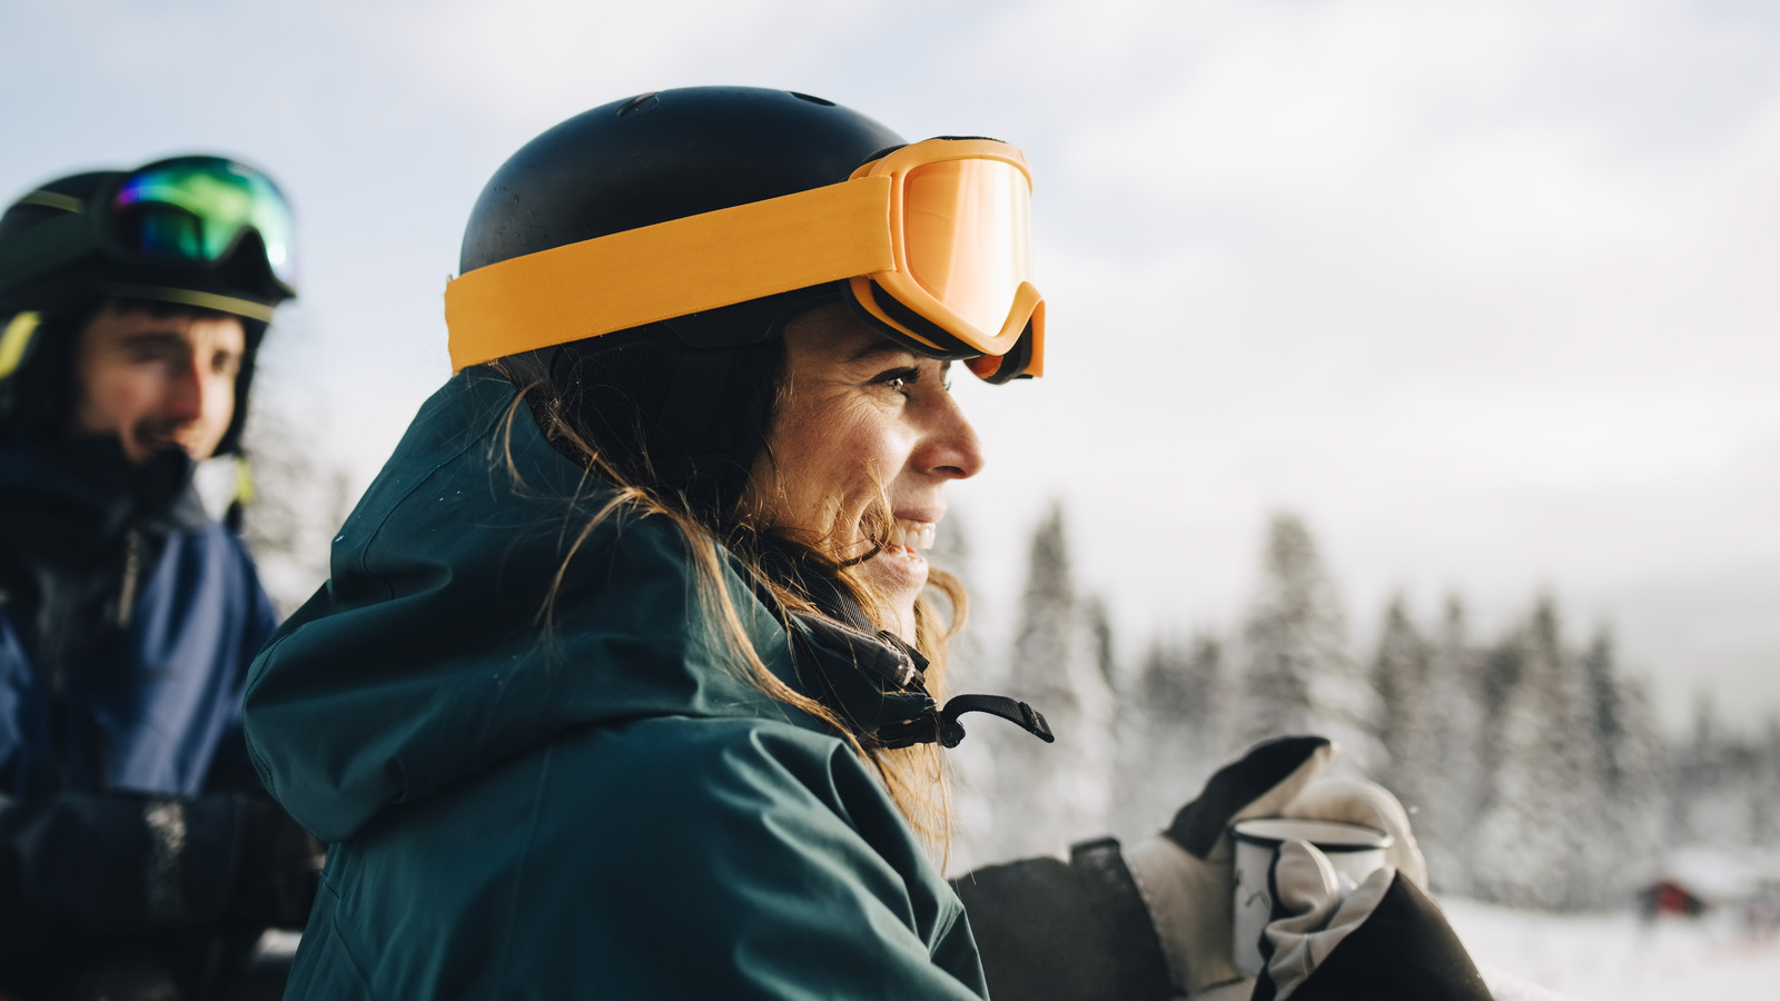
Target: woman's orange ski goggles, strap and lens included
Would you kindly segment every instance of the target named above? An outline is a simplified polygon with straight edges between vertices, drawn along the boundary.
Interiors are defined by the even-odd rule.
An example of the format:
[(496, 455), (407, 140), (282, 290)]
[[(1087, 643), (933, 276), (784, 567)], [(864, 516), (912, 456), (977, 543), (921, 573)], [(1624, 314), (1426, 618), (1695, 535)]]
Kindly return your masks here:
[(1040, 376), (1031, 203), (1020, 150), (927, 139), (840, 183), (490, 264), (445, 287), (452, 369), (838, 283), (917, 353)]

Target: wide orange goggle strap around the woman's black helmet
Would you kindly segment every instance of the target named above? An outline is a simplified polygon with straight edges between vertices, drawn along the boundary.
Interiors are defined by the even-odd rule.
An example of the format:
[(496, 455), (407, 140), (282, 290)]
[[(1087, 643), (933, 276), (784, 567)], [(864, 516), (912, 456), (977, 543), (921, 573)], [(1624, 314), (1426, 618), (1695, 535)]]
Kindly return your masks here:
[(445, 287), (452, 370), (895, 267), (890, 178), (854, 178), (470, 271)]

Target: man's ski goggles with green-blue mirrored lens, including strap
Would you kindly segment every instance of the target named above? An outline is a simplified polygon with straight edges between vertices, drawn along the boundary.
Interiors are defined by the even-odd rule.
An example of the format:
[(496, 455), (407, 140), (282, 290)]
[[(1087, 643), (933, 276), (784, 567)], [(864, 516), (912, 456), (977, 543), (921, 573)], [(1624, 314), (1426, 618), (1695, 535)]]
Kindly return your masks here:
[[(0, 253), (0, 273), (20, 283), (53, 273), (94, 251), (123, 265), (192, 265), (214, 273), (231, 262), (247, 233), (258, 237), (274, 301), (295, 296), (295, 230), (290, 203), (263, 173), (224, 157), (174, 157), (137, 167), (89, 199), (37, 191), (20, 205), (66, 212), (32, 226)], [(203, 285), (214, 285), (205, 281)], [(173, 297), (155, 285), (112, 283), (109, 292)], [(271, 319), (269, 305), (235, 296), (189, 292), (180, 301)]]

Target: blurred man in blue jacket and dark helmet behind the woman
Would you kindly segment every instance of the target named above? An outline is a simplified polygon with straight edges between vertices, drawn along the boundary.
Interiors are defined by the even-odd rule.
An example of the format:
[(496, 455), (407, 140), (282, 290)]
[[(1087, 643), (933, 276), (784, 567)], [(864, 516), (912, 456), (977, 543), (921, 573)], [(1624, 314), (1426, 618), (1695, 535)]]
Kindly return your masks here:
[(192, 486), (292, 297), (290, 208), (221, 157), (0, 216), (0, 997), (235, 997), (315, 842), (247, 762), (276, 613)]

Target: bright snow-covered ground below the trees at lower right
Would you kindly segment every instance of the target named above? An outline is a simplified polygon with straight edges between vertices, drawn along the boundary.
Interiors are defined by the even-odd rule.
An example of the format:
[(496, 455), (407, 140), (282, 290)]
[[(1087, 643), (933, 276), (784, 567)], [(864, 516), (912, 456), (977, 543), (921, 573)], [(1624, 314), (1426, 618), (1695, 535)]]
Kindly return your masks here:
[(1479, 965), (1579, 1001), (1693, 1001), (1780, 996), (1780, 935), (1753, 935), (1736, 914), (1565, 916), (1442, 899)]

